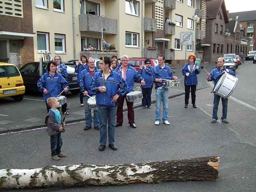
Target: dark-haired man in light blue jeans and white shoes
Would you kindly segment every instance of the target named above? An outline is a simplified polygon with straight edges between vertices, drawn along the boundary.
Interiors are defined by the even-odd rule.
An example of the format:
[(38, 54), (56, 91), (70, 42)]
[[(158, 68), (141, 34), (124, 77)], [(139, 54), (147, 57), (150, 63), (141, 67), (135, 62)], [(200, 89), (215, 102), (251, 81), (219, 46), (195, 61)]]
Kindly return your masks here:
[(169, 66), (164, 64), (164, 55), (158, 56), (158, 65), (155, 68), (155, 89), (156, 89), (156, 122), (155, 125), (159, 125), (161, 119), (161, 101), (163, 102), (163, 122), (166, 125), (170, 125), (168, 122), (168, 100), (169, 89), (163, 87), (163, 79), (178, 80), (176, 76), (172, 75), (172, 70)]

